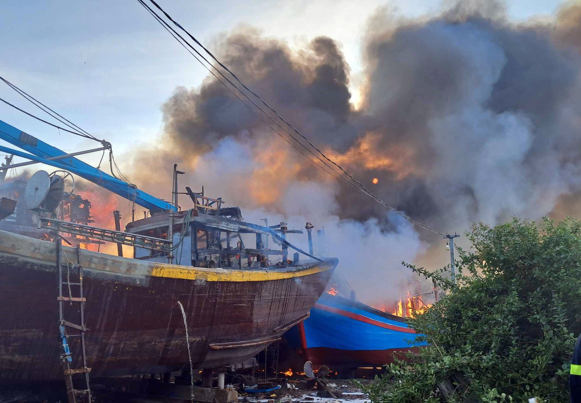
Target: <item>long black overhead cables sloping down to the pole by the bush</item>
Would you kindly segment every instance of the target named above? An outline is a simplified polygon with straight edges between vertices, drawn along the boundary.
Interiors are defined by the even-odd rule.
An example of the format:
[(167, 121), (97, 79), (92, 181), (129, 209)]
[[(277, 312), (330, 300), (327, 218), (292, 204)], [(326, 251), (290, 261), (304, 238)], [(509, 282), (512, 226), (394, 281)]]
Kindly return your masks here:
[[(147, 8), (147, 9), (149, 9), (151, 12), (153, 12), (153, 10), (151, 10), (151, 9), (149, 8), (149, 6), (147, 6), (147, 5), (144, 3), (144, 1), (143, 1), (143, 0), (138, 0), (138, 1), (139, 1), (139, 3), (141, 3), (141, 5), (143, 5), (145, 8)], [(159, 6), (159, 5), (158, 5), (158, 4), (157, 4), (157, 3), (156, 3), (154, 0), (150, 0), (150, 2), (152, 2), (152, 3), (153, 3), (153, 5), (155, 5), (155, 6), (156, 6), (156, 8), (157, 8), (157, 9), (159, 9), (159, 10), (160, 10), (160, 11), (161, 11), (161, 12), (162, 12), (162, 13), (163, 13), (163, 14), (164, 14), (166, 17), (167, 17), (167, 19), (169, 19), (170, 21), (172, 21), (172, 22), (175, 24), (175, 26), (177, 26), (177, 27), (178, 27), (178, 28), (180, 28), (182, 31), (184, 31), (184, 32), (185, 32), (185, 33), (186, 33), (186, 34), (187, 34), (187, 35), (188, 35), (188, 36), (189, 36), (189, 37), (190, 37), (190, 38), (191, 38), (193, 41), (195, 41), (195, 42), (196, 42), (196, 44), (198, 44), (199, 46), (201, 46), (201, 47), (202, 47), (202, 49), (204, 49), (204, 51), (206, 51), (206, 53), (208, 53), (208, 55), (210, 55), (210, 57), (211, 57), (212, 59), (214, 59), (214, 60), (215, 60), (215, 61), (216, 61), (216, 62), (217, 62), (217, 63), (218, 63), (218, 64), (219, 64), (219, 65), (220, 65), (220, 66), (221, 66), (221, 67), (222, 67), (224, 70), (228, 71), (228, 73), (229, 73), (229, 74), (231, 74), (231, 75), (232, 75), (232, 77), (234, 77), (234, 79), (235, 79), (236, 81), (238, 81), (238, 82), (239, 82), (239, 83), (242, 85), (242, 87), (243, 87), (243, 88), (245, 88), (247, 91), (249, 91), (250, 93), (252, 93), (252, 95), (254, 95), (256, 98), (258, 98), (258, 99), (259, 99), (259, 100), (260, 100), (260, 101), (263, 103), (263, 105), (264, 105), (264, 106), (266, 106), (268, 109), (270, 109), (272, 112), (274, 112), (274, 114), (275, 114), (275, 115), (276, 115), (276, 116), (277, 116), (277, 117), (278, 117), (280, 120), (282, 120), (282, 121), (283, 121), (283, 122), (284, 122), (286, 125), (288, 125), (290, 128), (292, 128), (292, 129), (293, 129), (293, 131), (295, 131), (295, 132), (296, 132), (296, 134), (300, 135), (300, 136), (301, 136), (301, 137), (302, 137), (302, 138), (303, 138), (303, 139), (304, 139), (304, 140), (305, 140), (305, 141), (306, 141), (306, 142), (307, 142), (307, 143), (308, 143), (308, 144), (309, 144), (311, 147), (313, 147), (313, 149), (314, 149), (314, 150), (316, 150), (316, 151), (317, 151), (317, 152), (318, 152), (318, 153), (319, 153), (319, 154), (320, 154), (322, 157), (324, 157), (324, 159), (326, 159), (327, 161), (329, 161), (329, 163), (331, 163), (331, 164), (335, 165), (336, 167), (338, 167), (340, 171), (344, 172), (344, 173), (347, 175), (347, 177), (349, 177), (349, 178), (350, 178), (350, 180), (351, 180), (351, 181), (353, 181), (353, 182), (357, 183), (357, 185), (359, 186), (359, 187), (357, 187), (357, 186), (356, 186), (356, 188), (357, 188), (357, 189), (360, 189), (360, 191), (361, 191), (361, 192), (363, 192), (365, 195), (367, 195), (367, 196), (370, 196), (372, 199), (376, 200), (376, 202), (378, 202), (378, 203), (382, 204), (382, 205), (383, 205), (383, 206), (385, 206), (385, 207), (388, 207), (390, 210), (394, 211), (394, 213), (401, 215), (401, 217), (403, 217), (403, 218), (405, 218), (406, 220), (408, 220), (408, 221), (412, 222), (413, 224), (415, 224), (415, 225), (418, 225), (419, 227), (421, 227), (421, 228), (424, 228), (424, 229), (426, 229), (426, 230), (428, 230), (428, 231), (431, 231), (431, 232), (434, 232), (434, 233), (438, 233), (438, 234), (440, 234), (440, 235), (446, 235), (446, 234), (444, 234), (443, 232), (437, 231), (436, 229), (433, 229), (433, 228), (431, 228), (431, 227), (429, 227), (429, 226), (427, 226), (427, 225), (425, 225), (425, 224), (422, 224), (421, 222), (418, 222), (418, 221), (415, 221), (415, 220), (413, 220), (412, 218), (408, 217), (406, 214), (403, 214), (403, 213), (401, 213), (401, 211), (399, 211), (399, 210), (397, 210), (396, 208), (394, 208), (394, 207), (390, 206), (389, 204), (387, 204), (387, 203), (383, 202), (383, 200), (379, 199), (379, 197), (377, 197), (377, 196), (375, 196), (373, 193), (371, 193), (371, 192), (370, 192), (370, 190), (368, 190), (367, 188), (365, 188), (365, 186), (363, 185), (363, 183), (361, 183), (360, 181), (358, 181), (357, 179), (355, 179), (355, 178), (354, 178), (352, 175), (350, 175), (350, 174), (349, 174), (349, 172), (345, 171), (345, 170), (344, 170), (344, 169), (343, 169), (343, 168), (342, 168), (342, 167), (341, 167), (339, 164), (335, 163), (335, 161), (332, 161), (331, 159), (329, 159), (329, 157), (327, 157), (327, 156), (326, 156), (326, 155), (325, 155), (325, 154), (324, 154), (324, 153), (323, 153), (323, 152), (322, 152), (320, 149), (318, 149), (318, 148), (317, 148), (317, 146), (315, 146), (313, 143), (311, 143), (311, 142), (309, 141), (309, 139), (308, 139), (308, 138), (306, 138), (306, 136), (304, 136), (302, 133), (300, 133), (300, 132), (299, 132), (299, 131), (298, 131), (298, 130), (295, 128), (295, 127), (293, 127), (293, 125), (291, 125), (290, 123), (288, 123), (288, 122), (287, 122), (287, 121), (286, 121), (286, 120), (285, 120), (285, 119), (284, 119), (284, 118), (283, 118), (283, 117), (282, 117), (282, 116), (281, 116), (281, 115), (280, 115), (280, 114), (279, 114), (279, 113), (278, 113), (276, 110), (274, 110), (274, 109), (273, 109), (273, 108), (272, 108), (270, 105), (268, 105), (268, 103), (266, 103), (266, 101), (264, 101), (262, 98), (260, 98), (260, 96), (259, 96), (259, 95), (257, 95), (257, 93), (253, 92), (253, 91), (252, 91), (250, 88), (248, 88), (248, 87), (247, 87), (247, 86), (246, 86), (246, 85), (245, 85), (245, 84), (244, 84), (244, 83), (243, 83), (243, 82), (242, 82), (242, 81), (241, 81), (241, 80), (240, 80), (240, 79), (239, 79), (239, 78), (238, 78), (238, 77), (237, 77), (237, 76), (236, 76), (234, 73), (232, 73), (232, 71), (230, 71), (230, 70), (228, 69), (228, 67), (224, 66), (224, 64), (223, 64), (223, 63), (221, 63), (221, 62), (220, 62), (220, 60), (218, 60), (218, 59), (217, 59), (217, 58), (216, 58), (216, 57), (215, 57), (215, 56), (214, 56), (214, 55), (213, 55), (213, 54), (212, 54), (212, 53), (211, 53), (211, 52), (210, 52), (208, 49), (206, 49), (206, 48), (205, 48), (205, 46), (203, 46), (203, 45), (202, 45), (202, 44), (201, 44), (201, 43), (198, 41), (198, 39), (196, 39), (195, 37), (193, 37), (193, 36), (192, 36), (192, 35), (191, 35), (191, 34), (190, 34), (190, 33), (189, 33), (187, 30), (185, 30), (185, 28), (184, 28), (184, 27), (182, 27), (182, 26), (181, 26), (179, 23), (177, 23), (177, 21), (175, 21), (174, 19), (172, 19), (172, 18), (171, 18), (171, 16), (170, 16), (170, 15), (168, 15), (168, 13), (166, 13), (166, 12), (165, 12), (165, 11), (164, 11), (164, 10), (163, 10), (163, 9), (162, 9), (162, 8), (161, 8), (161, 7), (160, 7), (160, 6)], [(153, 13), (155, 14), (155, 12), (153, 12)], [(159, 17), (159, 16), (158, 16), (158, 17)], [(166, 25), (167, 25), (167, 23), (165, 23), (165, 21), (163, 21), (163, 22), (164, 22), (164, 24), (166, 24)], [(171, 28), (171, 27), (170, 27), (170, 28)], [(174, 31), (174, 33), (176, 33), (176, 32), (175, 32), (175, 30), (173, 30), (173, 28), (171, 28), (171, 30), (172, 30), (172, 31)], [(176, 34), (177, 34), (177, 33), (176, 33)], [(181, 37), (181, 35), (180, 35), (180, 34), (177, 34), (177, 35), (178, 35), (178, 36), (179, 36), (179, 37), (182, 39), (182, 41), (184, 41), (184, 42), (185, 42), (185, 43), (186, 43), (188, 46), (190, 46), (190, 47), (193, 49), (193, 51), (195, 51), (196, 53), (198, 53), (198, 55), (199, 55), (200, 57), (202, 57), (202, 59), (203, 59), (203, 60), (205, 60), (205, 61), (206, 61), (206, 63), (210, 64), (210, 66), (212, 66), (212, 67), (213, 67), (213, 69), (215, 69), (216, 71), (218, 71), (218, 73), (219, 73), (219, 74), (220, 74), (222, 77), (224, 77), (224, 78), (225, 78), (225, 80), (227, 80), (227, 81), (229, 82), (229, 84), (231, 84), (233, 87), (235, 87), (236, 89), (238, 89), (238, 91), (239, 91), (239, 92), (241, 92), (241, 93), (242, 93), (242, 95), (244, 95), (244, 96), (245, 96), (245, 98), (247, 98), (248, 100), (250, 100), (250, 102), (252, 102), (254, 106), (256, 106), (257, 108), (259, 108), (259, 109), (260, 109), (260, 110), (261, 110), (261, 111), (262, 111), (264, 114), (266, 114), (268, 117), (270, 117), (270, 118), (271, 118), (271, 120), (272, 120), (272, 121), (273, 121), (275, 124), (277, 124), (277, 125), (278, 125), (278, 127), (280, 127), (280, 128), (283, 130), (283, 131), (285, 131), (285, 132), (286, 132), (288, 135), (290, 135), (290, 136), (291, 136), (293, 139), (295, 139), (295, 141), (297, 141), (297, 142), (299, 142), (299, 143), (300, 143), (300, 141), (298, 141), (298, 140), (297, 140), (297, 139), (296, 139), (294, 136), (292, 136), (292, 135), (291, 135), (291, 134), (290, 134), (288, 131), (286, 131), (286, 129), (285, 129), (285, 128), (283, 128), (283, 127), (282, 127), (282, 125), (278, 123), (278, 121), (276, 121), (274, 118), (272, 118), (272, 117), (270, 116), (270, 114), (268, 114), (268, 113), (267, 113), (267, 112), (266, 112), (264, 109), (262, 109), (262, 108), (261, 108), (259, 105), (257, 105), (257, 104), (256, 104), (256, 102), (254, 102), (254, 100), (250, 99), (250, 97), (249, 97), (248, 95), (246, 95), (246, 93), (244, 93), (243, 91), (241, 91), (241, 89), (239, 89), (239, 88), (238, 88), (238, 87), (237, 87), (237, 86), (236, 86), (236, 85), (235, 85), (235, 84), (234, 84), (234, 83), (233, 83), (231, 80), (229, 80), (227, 77), (225, 77), (225, 75), (224, 75), (224, 74), (223, 74), (223, 73), (222, 73), (220, 70), (218, 70), (218, 69), (217, 69), (215, 66), (213, 66), (213, 64), (211, 64), (211, 63), (210, 63), (210, 62), (209, 62), (209, 61), (208, 61), (208, 60), (207, 60), (207, 59), (206, 59), (206, 58), (205, 58), (203, 55), (201, 55), (201, 54), (198, 52), (198, 50), (197, 50), (197, 49), (193, 48), (193, 46), (192, 46), (191, 44), (189, 44), (189, 42), (187, 42), (187, 41), (186, 41), (186, 40), (185, 40), (183, 37)], [(175, 38), (175, 37), (174, 37), (174, 38)], [(196, 57), (196, 59), (198, 60), (198, 62), (200, 62), (200, 60), (199, 60), (197, 57)], [(201, 62), (200, 62), (200, 63), (201, 63)], [(300, 143), (300, 144), (301, 144), (301, 145), (303, 145), (302, 143)], [(306, 146), (304, 146), (304, 145), (303, 145), (303, 147), (307, 148), (307, 147), (306, 147)], [(312, 153), (312, 154), (313, 154), (315, 157), (317, 157), (319, 160), (321, 160), (321, 158), (320, 158), (320, 157), (319, 157), (317, 154), (313, 153), (312, 151), (311, 151), (311, 153)], [(321, 161), (322, 161), (322, 160), (321, 160)], [(313, 161), (313, 162), (314, 162), (314, 161)], [(322, 161), (322, 162), (324, 163), (324, 161)], [(326, 164), (326, 163), (325, 163), (325, 164)], [(318, 164), (317, 164), (317, 165), (318, 165)], [(327, 165), (327, 164), (326, 164), (326, 165)], [(328, 165), (327, 165), (327, 166), (328, 166)], [(334, 170), (333, 170), (333, 172), (336, 172), (336, 171), (334, 171)], [(336, 172), (336, 173), (339, 173), (339, 172)], [(349, 181), (349, 182), (350, 182), (350, 181)]]

